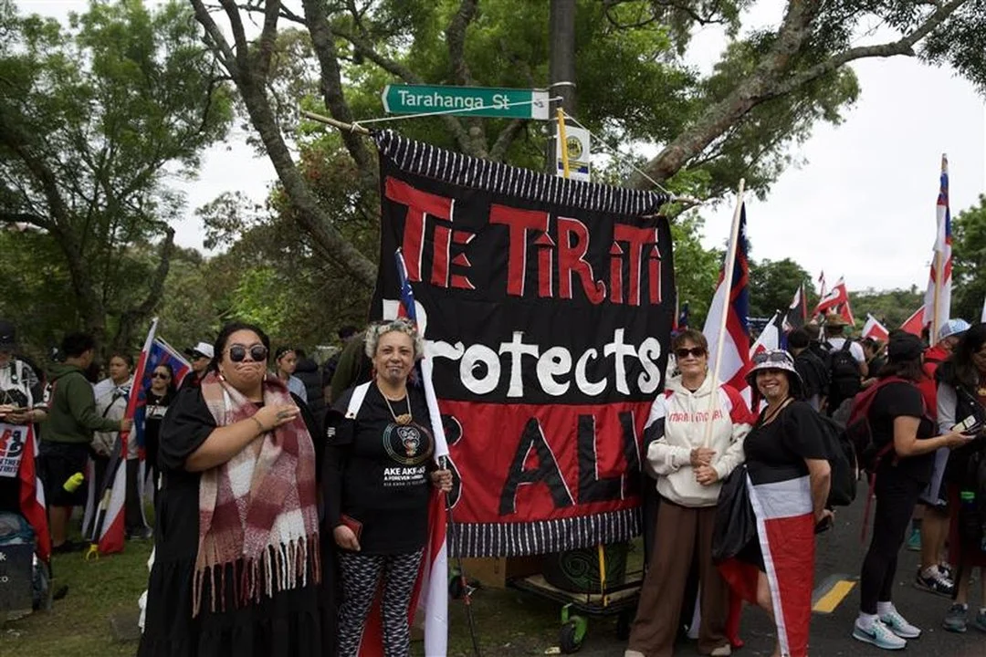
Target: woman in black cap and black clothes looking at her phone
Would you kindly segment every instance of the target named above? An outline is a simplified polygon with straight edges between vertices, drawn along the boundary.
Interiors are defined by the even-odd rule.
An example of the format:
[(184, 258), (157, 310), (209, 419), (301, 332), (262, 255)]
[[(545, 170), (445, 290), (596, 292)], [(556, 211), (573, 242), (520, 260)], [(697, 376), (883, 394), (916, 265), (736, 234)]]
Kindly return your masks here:
[(887, 365), (880, 372), (867, 420), (876, 447), (889, 447), (879, 459), (873, 493), (877, 498), (873, 538), (860, 575), (860, 614), (853, 638), (884, 650), (900, 650), (921, 636), (891, 602), (897, 556), (918, 497), (931, 481), (935, 451), (968, 444), (960, 431), (938, 435), (918, 388), (924, 344), (904, 331), (890, 333)]

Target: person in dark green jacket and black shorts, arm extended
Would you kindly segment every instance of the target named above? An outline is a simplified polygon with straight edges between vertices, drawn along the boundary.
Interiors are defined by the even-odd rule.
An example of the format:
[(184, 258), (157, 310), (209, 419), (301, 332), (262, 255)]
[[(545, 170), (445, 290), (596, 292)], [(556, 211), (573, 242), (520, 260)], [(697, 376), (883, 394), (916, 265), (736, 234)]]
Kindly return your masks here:
[(41, 425), (38, 449), (53, 553), (71, 552), (82, 547), (71, 543), (67, 537), (72, 507), (85, 503), (86, 489), (78, 486), (67, 491), (64, 485), (76, 473), (86, 472), (93, 431), (129, 431), (133, 424), (128, 418), (108, 420), (96, 412), (93, 386), (84, 374), (95, 357), (93, 336), (69, 334), (62, 340), (61, 352), (65, 361), (53, 363), (48, 370), (51, 381), (48, 418)]

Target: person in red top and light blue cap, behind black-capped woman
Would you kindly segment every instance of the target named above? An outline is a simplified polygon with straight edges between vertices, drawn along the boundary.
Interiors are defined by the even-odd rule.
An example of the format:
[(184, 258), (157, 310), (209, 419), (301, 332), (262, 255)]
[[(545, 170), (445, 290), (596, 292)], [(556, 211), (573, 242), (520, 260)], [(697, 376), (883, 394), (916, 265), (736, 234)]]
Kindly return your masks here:
[[(918, 384), (918, 388), (921, 389), (928, 416), (932, 420), (938, 417), (938, 386), (935, 375), (939, 365), (949, 358), (959, 338), (967, 330), (969, 323), (964, 319), (950, 319), (939, 329), (938, 342), (925, 350), (922, 367), (925, 378)], [(918, 500), (921, 518), (912, 523), (911, 533), (913, 538), (915, 530), (917, 531), (918, 547), (921, 550), (921, 565), (915, 574), (914, 585), (923, 591), (951, 598), (954, 592), (951, 572), (947, 566), (941, 565), (945, 563), (945, 544), (949, 534), (948, 496), (943, 485), (949, 453), (949, 449), (943, 448), (935, 454), (931, 482)], [(910, 543), (911, 539), (908, 539), (908, 548)]]

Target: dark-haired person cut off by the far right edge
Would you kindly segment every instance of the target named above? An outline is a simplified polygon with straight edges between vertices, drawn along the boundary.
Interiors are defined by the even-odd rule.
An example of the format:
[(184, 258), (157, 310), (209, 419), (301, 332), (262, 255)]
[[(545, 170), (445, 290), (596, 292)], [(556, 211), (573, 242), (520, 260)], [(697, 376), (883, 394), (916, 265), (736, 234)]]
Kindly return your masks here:
[[(970, 431), (982, 434), (986, 424), (986, 324), (975, 324), (962, 334), (951, 356), (938, 369), (938, 427), (950, 430), (967, 422)], [(986, 552), (982, 550), (981, 524), (975, 514), (963, 512), (965, 503), (981, 503), (982, 485), (978, 468), (986, 461), (986, 441), (981, 437), (949, 456), (945, 481), (949, 499), (949, 557), (955, 566), (955, 596), (945, 617), (945, 628), (964, 632), (968, 624), (969, 581), (979, 567), (982, 598), (972, 624), (986, 631)], [(963, 494), (964, 493), (964, 494)], [(963, 522), (972, 518), (973, 522)], [(971, 524), (971, 526), (970, 526)]]

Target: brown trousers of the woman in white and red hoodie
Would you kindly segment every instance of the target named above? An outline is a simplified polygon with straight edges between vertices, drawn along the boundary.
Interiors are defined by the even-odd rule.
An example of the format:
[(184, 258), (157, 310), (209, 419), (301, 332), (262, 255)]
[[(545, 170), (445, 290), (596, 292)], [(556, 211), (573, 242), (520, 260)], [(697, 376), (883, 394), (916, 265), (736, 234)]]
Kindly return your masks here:
[(681, 617), (681, 599), (693, 559), (701, 579), (698, 651), (707, 655), (726, 645), (729, 586), (712, 562), (716, 507), (688, 508), (661, 500), (654, 552), (640, 590), (630, 650), (647, 657), (671, 657)]

